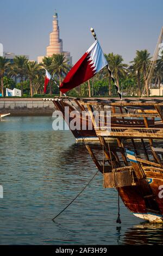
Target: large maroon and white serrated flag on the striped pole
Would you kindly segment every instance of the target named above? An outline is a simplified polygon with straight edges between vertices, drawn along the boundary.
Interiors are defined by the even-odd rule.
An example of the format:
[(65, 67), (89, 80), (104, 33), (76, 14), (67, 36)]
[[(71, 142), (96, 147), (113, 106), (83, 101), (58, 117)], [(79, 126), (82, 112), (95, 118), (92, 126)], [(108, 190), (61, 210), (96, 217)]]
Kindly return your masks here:
[(92, 78), (99, 70), (108, 65), (104, 53), (96, 40), (84, 53), (82, 58), (72, 67), (60, 85), (60, 91), (65, 93)]

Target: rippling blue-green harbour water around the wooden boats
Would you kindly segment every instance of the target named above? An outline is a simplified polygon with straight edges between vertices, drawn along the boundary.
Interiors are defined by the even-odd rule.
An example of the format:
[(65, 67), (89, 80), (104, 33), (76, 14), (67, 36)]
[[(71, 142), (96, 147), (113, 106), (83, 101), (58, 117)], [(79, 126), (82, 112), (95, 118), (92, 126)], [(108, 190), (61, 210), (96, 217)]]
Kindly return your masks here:
[(162, 224), (131, 215), (98, 173), (82, 195), (57, 215), (95, 174), (86, 147), (53, 118), (6, 117), (0, 122), (1, 245), (163, 244)]

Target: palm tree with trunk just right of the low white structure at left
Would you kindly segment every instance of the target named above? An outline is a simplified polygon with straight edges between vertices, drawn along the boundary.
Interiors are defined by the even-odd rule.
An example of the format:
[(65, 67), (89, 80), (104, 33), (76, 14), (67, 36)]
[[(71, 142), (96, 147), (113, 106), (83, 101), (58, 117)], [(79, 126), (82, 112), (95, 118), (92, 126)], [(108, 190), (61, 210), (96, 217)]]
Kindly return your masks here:
[(18, 78), (20, 78), (22, 96), (23, 96), (23, 79), (26, 75), (27, 62), (28, 62), (28, 59), (26, 56), (16, 56), (14, 58), (14, 63), (11, 66), (11, 72), (10, 72), (12, 76), (17, 76)]

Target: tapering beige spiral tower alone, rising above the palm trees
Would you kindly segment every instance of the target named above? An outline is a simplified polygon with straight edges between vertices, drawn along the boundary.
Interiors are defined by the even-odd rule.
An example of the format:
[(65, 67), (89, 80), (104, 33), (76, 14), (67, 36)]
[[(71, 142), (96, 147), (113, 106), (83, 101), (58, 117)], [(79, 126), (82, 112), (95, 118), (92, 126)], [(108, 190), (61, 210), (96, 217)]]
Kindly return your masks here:
[(58, 14), (53, 15), (53, 31), (50, 33), (50, 43), (47, 46), (47, 56), (63, 52), (62, 40), (59, 38)]

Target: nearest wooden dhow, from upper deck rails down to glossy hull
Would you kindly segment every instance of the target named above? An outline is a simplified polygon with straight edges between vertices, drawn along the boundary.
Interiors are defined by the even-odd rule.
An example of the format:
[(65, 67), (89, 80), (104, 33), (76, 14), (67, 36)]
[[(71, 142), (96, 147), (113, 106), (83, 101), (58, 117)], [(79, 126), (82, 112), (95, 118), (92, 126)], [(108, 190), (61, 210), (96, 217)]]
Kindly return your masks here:
[[(83, 103), (84, 104), (84, 103)], [(109, 106), (134, 106), (135, 118), (143, 118), (146, 127), (98, 127), (93, 109), (98, 102), (87, 102), (99, 144), (86, 145), (96, 167), (102, 172), (105, 188), (116, 188), (124, 205), (136, 217), (163, 222), (163, 103), (110, 102)], [(103, 103), (102, 103), (103, 104)], [(143, 113), (143, 114), (142, 114)], [(151, 118), (159, 124), (149, 127)], [(123, 114), (131, 119), (133, 114)], [(108, 138), (115, 139), (111, 144)]]

